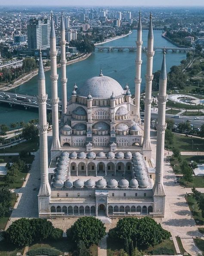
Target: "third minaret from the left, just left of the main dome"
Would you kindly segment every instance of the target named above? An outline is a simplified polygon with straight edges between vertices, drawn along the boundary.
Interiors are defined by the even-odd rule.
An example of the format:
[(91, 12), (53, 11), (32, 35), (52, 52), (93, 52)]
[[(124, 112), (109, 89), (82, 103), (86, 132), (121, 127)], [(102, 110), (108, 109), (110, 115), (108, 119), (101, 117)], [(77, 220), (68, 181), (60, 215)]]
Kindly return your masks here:
[(66, 50), (65, 50), (65, 25), (64, 25), (64, 18), (62, 13), (61, 18), (61, 27), (60, 27), (60, 49), (61, 49), (61, 70), (62, 70), (62, 78), (61, 78), (61, 85), (62, 85), (62, 115), (66, 113), (67, 110), (67, 77), (66, 77)]

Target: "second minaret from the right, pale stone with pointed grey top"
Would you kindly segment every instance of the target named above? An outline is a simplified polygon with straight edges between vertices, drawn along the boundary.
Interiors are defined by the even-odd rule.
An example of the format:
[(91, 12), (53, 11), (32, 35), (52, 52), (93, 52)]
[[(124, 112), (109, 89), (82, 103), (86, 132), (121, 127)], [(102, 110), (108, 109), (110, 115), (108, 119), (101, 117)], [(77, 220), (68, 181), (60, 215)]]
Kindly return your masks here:
[[(151, 84), (153, 80), (152, 66), (154, 50), (154, 35), (152, 28), (152, 20), (150, 14), (149, 32), (148, 32), (148, 43), (147, 43), (147, 70), (146, 70), (146, 87), (145, 87), (145, 126), (144, 126), (144, 138), (143, 138), (143, 155), (147, 159), (151, 158), (151, 142), (150, 142), (150, 124), (151, 124)], [(146, 151), (146, 152), (145, 152)]]

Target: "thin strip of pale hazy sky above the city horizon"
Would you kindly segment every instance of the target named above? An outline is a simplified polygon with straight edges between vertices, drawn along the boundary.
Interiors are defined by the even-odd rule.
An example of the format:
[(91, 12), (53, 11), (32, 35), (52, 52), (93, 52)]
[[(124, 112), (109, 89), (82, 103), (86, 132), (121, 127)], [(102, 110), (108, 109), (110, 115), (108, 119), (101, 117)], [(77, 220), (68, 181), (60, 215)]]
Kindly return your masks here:
[(204, 0), (6, 0), (12, 6), (204, 6)]

